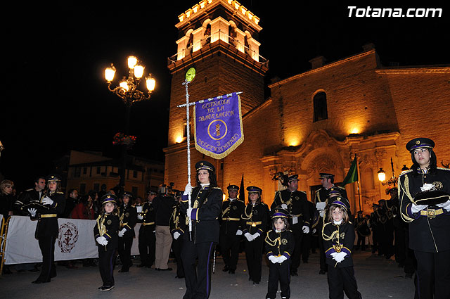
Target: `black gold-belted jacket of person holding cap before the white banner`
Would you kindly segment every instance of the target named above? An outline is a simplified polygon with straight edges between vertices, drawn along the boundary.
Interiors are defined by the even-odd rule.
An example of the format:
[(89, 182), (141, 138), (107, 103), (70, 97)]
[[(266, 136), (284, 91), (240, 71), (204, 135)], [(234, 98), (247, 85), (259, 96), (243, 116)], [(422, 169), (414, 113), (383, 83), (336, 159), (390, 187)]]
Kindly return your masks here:
[(36, 217), (31, 217), (31, 220), (38, 220), (36, 234), (34, 234), (36, 238), (41, 236), (58, 237), (58, 215), (64, 212), (65, 197), (63, 192), (51, 192), (48, 196), (53, 201), (51, 205), (45, 205), (49, 209), (41, 209), (37, 212)]

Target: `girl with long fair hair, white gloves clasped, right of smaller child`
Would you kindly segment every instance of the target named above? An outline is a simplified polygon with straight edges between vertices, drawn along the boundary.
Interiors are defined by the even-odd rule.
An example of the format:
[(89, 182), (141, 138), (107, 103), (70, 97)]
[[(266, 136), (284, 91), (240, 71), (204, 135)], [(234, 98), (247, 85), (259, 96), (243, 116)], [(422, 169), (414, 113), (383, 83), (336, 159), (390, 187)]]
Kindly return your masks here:
[(323, 248), (328, 265), (328, 290), (330, 299), (361, 299), (354, 278), (352, 248), (354, 225), (349, 222), (346, 200), (341, 196), (333, 198), (328, 210), (328, 223), (323, 225)]

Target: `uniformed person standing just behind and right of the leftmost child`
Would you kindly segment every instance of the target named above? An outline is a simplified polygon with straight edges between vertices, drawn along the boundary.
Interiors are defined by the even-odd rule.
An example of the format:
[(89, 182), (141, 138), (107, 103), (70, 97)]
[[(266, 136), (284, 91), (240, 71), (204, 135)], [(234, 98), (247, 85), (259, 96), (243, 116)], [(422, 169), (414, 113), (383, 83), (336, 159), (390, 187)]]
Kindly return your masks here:
[(133, 195), (124, 192), (122, 205), (119, 208), (120, 231), (119, 231), (119, 257), (122, 269), (119, 272), (128, 272), (131, 267), (131, 246), (133, 245), (134, 226), (138, 221), (138, 212), (132, 202)]

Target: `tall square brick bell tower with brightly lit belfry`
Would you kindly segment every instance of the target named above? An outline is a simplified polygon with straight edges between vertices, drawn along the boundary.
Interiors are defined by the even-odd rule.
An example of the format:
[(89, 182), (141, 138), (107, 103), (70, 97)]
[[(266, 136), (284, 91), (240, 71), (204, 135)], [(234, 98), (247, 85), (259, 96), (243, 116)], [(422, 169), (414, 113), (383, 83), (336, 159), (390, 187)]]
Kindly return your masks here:
[[(178, 18), (176, 54), (167, 60), (172, 86), (168, 146), (164, 151), (165, 182), (175, 182), (180, 189), (186, 184), (186, 126), (193, 128), (192, 118), (190, 124), (186, 121), (186, 109), (177, 107), (186, 103), (186, 75), (195, 70), (195, 78), (188, 84), (190, 101), (243, 91), (240, 99), (245, 115), (264, 101), (264, 74), (269, 61), (259, 55), (259, 18), (238, 1), (202, 0)], [(200, 159), (205, 158), (191, 146), (191, 163)], [(221, 161), (211, 162), (217, 165), (220, 182)]]

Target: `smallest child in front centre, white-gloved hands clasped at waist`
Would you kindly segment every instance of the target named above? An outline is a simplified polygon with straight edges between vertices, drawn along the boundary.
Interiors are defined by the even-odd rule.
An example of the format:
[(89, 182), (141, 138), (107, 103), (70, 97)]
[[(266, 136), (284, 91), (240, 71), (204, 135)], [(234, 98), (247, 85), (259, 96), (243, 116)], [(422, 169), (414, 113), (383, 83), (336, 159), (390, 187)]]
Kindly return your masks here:
[(295, 248), (295, 237), (288, 229), (288, 211), (281, 208), (274, 210), (272, 229), (266, 236), (266, 254), (269, 258), (269, 285), (266, 298), (276, 298), (278, 281), (281, 298), (290, 298), (290, 256)]

